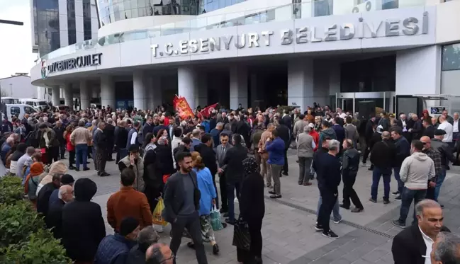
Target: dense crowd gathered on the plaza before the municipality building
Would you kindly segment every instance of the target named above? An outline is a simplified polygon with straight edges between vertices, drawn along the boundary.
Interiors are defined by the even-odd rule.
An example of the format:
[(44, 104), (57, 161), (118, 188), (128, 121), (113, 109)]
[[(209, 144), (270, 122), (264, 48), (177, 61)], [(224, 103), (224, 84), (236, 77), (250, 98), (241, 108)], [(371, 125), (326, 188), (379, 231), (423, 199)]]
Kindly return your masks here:
[[(164, 108), (107, 106), (25, 115), (13, 124), (5, 119), (0, 156), (9, 173), (23, 179), (25, 196), (75, 263), (175, 263), (183, 236), (191, 239), (187, 246), (196, 251), (198, 263), (207, 263), (203, 241), (211, 243), (214, 254), (220, 251), (211, 224), (213, 208), (224, 215), (224, 227), (247, 224), (250, 246), (238, 248), (238, 261), (262, 263), (264, 188), (271, 199), (282, 197), (281, 177), (289, 175), (290, 147), (297, 150), (298, 184), (310, 186), (315, 176), (318, 182), (315, 229), (337, 239), (330, 229), (331, 214), (338, 224), (340, 207), (354, 213), (364, 210), (353, 188), (361, 154), (364, 166), (371, 156), (369, 201), (378, 201), (383, 178), (383, 203), (390, 202), (394, 174), (398, 190), (392, 194), (401, 208), (393, 224), (405, 228), (413, 201), (418, 205), (429, 199), (430, 207), (438, 205), (449, 162), (458, 162), (459, 128), (459, 114), (450, 117), (447, 112), (437, 118), (427, 112), (420, 119), (415, 114), (395, 118), (381, 113), (359, 120), (327, 105), (314, 105), (305, 113), (298, 108), (220, 107), (208, 115), (198, 109), (194, 117), (181, 119)], [(66, 151), (69, 166), (60, 161)], [(90, 170), (89, 159), (100, 177), (110, 176), (106, 162), (118, 164), (121, 187), (107, 202), (107, 222), (114, 235), (106, 236), (101, 207), (91, 202), (96, 183), (74, 180), (69, 174), (81, 167)], [(157, 243), (162, 226), (152, 227), (159, 201), (164, 201), (163, 219), (172, 226), (169, 247)], [(422, 221), (422, 209), (414, 213), (415, 225)]]

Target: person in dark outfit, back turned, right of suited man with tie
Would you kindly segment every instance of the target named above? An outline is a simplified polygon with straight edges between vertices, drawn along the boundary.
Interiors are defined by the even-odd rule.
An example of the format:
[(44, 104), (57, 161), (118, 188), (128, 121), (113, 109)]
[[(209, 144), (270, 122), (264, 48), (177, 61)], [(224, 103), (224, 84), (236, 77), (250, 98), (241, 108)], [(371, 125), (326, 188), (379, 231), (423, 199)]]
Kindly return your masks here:
[(241, 144), (241, 135), (233, 134), (233, 146), (228, 149), (223, 164), (225, 167), (225, 176), (227, 177), (227, 197), (228, 197), (228, 218), (225, 222), (235, 224), (235, 189), (237, 198), (240, 198), (240, 188), (245, 171), (242, 161), (247, 158), (247, 148)]

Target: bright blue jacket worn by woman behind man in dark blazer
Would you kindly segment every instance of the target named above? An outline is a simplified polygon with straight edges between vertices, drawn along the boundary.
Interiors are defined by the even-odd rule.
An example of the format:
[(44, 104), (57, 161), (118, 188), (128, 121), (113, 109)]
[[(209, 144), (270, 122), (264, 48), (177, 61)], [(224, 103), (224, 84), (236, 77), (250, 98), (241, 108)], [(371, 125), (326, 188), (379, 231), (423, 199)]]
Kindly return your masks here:
[(201, 193), (200, 210), (198, 210), (198, 213), (200, 215), (208, 215), (209, 212), (211, 212), (212, 200), (217, 196), (215, 193), (213, 176), (211, 176), (211, 171), (209, 171), (208, 168), (203, 168), (200, 171), (193, 168), (193, 171), (196, 172), (198, 189)]

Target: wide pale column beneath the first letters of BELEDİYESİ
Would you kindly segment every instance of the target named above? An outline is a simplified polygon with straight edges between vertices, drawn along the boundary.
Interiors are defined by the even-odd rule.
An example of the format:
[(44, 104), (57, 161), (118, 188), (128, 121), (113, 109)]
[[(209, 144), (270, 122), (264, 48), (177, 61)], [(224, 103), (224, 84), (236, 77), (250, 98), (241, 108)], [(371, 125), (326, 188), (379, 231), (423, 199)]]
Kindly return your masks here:
[(288, 62), (288, 105), (299, 106), (301, 112), (308, 105), (313, 106), (314, 85), (313, 59), (292, 59)]

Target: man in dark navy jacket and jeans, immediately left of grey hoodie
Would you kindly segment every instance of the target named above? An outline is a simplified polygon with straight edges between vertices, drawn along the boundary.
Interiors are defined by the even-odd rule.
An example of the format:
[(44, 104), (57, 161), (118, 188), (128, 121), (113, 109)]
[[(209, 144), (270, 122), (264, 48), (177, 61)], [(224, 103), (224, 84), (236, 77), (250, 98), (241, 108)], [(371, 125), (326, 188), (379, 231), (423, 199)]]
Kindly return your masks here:
[(395, 200), (400, 201), (404, 183), (399, 176), (399, 171), (401, 170), (401, 164), (403, 164), (404, 159), (410, 156), (410, 143), (408, 139), (403, 137), (403, 130), (401, 130), (400, 127), (393, 127), (391, 130), (391, 138), (393, 139), (396, 155), (393, 159), (393, 171), (396, 181), (398, 182), (398, 190), (392, 194), (397, 196)]

